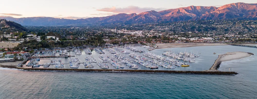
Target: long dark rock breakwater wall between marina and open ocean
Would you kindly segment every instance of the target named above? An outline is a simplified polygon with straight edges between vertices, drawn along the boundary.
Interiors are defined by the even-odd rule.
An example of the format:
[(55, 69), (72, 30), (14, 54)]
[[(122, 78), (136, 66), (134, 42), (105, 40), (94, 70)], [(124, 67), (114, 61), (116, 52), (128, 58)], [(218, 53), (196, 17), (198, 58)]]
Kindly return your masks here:
[(109, 71), (109, 72), (138, 72), (138, 73), (177, 73), (177, 74), (238, 74), (236, 72), (223, 71), (174, 71), (174, 70), (121, 70), (121, 69), (56, 69), (56, 68), (22, 68), (23, 70), (50, 70), (50, 71)]

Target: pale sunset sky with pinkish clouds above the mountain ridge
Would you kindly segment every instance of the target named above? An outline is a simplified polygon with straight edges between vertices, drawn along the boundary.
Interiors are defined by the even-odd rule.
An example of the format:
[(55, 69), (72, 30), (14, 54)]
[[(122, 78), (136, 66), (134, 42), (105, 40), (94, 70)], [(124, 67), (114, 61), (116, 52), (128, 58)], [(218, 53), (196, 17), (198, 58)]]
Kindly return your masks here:
[(86, 19), (118, 13), (162, 11), (187, 6), (222, 6), (256, 0), (1, 0), (0, 16)]

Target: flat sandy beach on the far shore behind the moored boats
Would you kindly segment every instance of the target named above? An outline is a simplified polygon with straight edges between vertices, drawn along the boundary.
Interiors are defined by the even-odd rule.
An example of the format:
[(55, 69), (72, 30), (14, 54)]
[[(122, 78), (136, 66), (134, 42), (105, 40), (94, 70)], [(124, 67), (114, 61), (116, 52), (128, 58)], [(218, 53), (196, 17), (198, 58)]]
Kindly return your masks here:
[(219, 45), (228, 45), (223, 43), (157, 43), (156, 49), (163, 48), (176, 48), (176, 47), (196, 47), (196, 46), (219, 46)]

